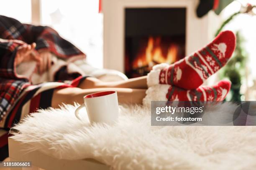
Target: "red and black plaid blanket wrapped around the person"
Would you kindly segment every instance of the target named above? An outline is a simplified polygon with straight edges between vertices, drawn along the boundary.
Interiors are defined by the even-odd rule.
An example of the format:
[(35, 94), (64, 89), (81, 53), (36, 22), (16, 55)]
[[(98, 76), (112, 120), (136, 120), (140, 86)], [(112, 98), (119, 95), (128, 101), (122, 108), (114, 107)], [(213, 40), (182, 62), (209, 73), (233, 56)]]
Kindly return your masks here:
[(4, 120), (8, 117), (11, 107), (17, 102), (23, 90), (32, 86), (30, 80), (16, 74), (14, 60), (17, 48), (22, 44), (13, 40), (28, 44), (36, 42), (36, 50), (48, 50), (63, 60), (85, 58), (77, 47), (62, 38), (54, 29), (23, 24), (0, 15), (0, 128), (7, 130), (11, 125), (6, 127)]

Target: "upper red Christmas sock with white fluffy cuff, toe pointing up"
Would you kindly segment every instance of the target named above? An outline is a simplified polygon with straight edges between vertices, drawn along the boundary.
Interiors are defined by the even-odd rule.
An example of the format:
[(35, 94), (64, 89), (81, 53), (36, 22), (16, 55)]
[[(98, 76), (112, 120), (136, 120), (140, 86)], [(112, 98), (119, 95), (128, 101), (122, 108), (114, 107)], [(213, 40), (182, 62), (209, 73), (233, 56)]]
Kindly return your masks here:
[(183, 89), (196, 89), (223, 67), (236, 46), (236, 36), (231, 31), (221, 32), (206, 47), (172, 65), (155, 65), (148, 73), (148, 87), (169, 84)]

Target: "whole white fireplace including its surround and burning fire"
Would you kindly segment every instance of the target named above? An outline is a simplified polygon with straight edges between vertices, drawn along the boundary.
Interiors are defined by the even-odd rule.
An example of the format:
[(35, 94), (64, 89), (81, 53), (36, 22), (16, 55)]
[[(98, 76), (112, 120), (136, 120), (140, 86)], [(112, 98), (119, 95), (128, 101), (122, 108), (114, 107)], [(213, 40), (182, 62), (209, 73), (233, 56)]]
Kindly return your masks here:
[(197, 18), (198, 0), (102, 0), (103, 65), (128, 77), (173, 63), (206, 45), (218, 27), (209, 13)]

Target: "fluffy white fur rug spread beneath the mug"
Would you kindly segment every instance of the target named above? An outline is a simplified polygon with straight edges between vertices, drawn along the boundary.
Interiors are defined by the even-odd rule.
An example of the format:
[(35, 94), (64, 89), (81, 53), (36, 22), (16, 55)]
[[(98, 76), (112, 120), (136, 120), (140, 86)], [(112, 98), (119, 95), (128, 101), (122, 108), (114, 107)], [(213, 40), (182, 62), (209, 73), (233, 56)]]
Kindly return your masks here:
[[(228, 114), (223, 107), (211, 113)], [(29, 144), (28, 150), (69, 160), (94, 158), (113, 169), (256, 168), (256, 127), (151, 126), (148, 107), (120, 108), (114, 126), (91, 126), (86, 114), (77, 120), (72, 105), (40, 110), (15, 127), (20, 133), (14, 138)]]

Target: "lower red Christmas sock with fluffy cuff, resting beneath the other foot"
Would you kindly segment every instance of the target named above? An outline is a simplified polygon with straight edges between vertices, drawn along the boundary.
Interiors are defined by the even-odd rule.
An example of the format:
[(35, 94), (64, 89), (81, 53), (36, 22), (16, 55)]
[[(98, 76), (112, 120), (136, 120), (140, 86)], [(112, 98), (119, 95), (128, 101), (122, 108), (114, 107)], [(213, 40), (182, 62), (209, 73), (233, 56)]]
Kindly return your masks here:
[(146, 91), (143, 104), (151, 101), (223, 101), (230, 90), (230, 81), (222, 80), (217, 85), (200, 86), (194, 90), (186, 90), (173, 85), (155, 85)]

